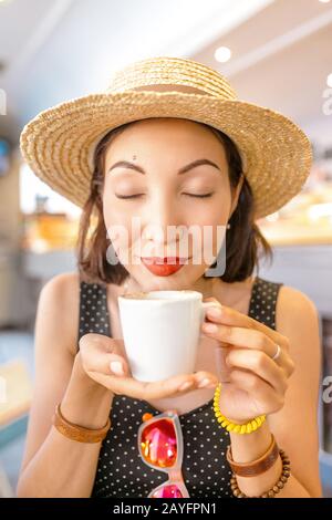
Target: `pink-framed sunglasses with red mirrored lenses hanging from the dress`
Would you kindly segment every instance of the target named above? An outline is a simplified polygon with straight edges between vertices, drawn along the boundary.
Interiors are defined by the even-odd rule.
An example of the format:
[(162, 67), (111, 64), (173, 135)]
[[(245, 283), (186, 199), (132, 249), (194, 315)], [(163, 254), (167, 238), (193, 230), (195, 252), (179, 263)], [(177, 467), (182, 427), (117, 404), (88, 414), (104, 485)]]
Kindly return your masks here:
[(147, 498), (189, 498), (181, 472), (184, 438), (176, 410), (156, 416), (144, 414), (137, 440), (143, 461), (168, 475), (168, 480), (153, 489)]

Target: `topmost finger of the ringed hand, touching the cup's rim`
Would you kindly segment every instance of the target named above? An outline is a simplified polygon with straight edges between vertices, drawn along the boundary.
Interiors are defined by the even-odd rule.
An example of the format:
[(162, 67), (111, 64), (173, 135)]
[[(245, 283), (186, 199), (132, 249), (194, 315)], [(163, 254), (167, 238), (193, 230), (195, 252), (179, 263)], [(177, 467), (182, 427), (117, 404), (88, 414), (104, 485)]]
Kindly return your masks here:
[(209, 305), (206, 309), (206, 318), (208, 320), (225, 325), (241, 326), (260, 331), (268, 335), (272, 342), (284, 347), (286, 351), (289, 350), (289, 340), (273, 329), (270, 329), (263, 323), (235, 309), (231, 309), (230, 306), (221, 305), (221, 303), (216, 298), (210, 297), (204, 301), (214, 303), (214, 305)]

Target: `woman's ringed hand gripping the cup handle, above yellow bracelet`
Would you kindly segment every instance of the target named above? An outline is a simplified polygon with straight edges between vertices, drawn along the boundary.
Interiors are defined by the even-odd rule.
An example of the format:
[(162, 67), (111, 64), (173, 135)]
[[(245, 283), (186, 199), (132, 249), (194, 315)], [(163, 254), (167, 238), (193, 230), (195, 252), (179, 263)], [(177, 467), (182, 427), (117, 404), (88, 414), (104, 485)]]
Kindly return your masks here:
[[(222, 415), (234, 423), (246, 423), (258, 415), (278, 412), (284, 403), (288, 378), (294, 371), (289, 340), (252, 318), (221, 305), (215, 298), (205, 302), (215, 305), (206, 310), (207, 320), (201, 330), (217, 341), (217, 353), (226, 354), (228, 370), (225, 372), (224, 367), (220, 371), (224, 376), (219, 375)], [(215, 325), (215, 330), (208, 331), (208, 325)]]

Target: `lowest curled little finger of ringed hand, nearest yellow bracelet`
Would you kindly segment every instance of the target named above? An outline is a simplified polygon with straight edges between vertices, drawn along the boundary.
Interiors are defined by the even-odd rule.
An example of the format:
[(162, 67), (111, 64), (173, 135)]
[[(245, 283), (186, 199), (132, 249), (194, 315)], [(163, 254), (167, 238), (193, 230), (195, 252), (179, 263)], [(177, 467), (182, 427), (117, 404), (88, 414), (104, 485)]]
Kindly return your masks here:
[[(250, 372), (236, 368), (231, 371), (230, 381), (238, 388), (243, 389), (251, 395), (257, 403), (261, 403), (267, 410), (266, 413), (272, 414), (283, 406), (283, 396), (278, 394), (259, 376)], [(260, 415), (260, 413), (261, 412), (259, 412), (258, 415)]]

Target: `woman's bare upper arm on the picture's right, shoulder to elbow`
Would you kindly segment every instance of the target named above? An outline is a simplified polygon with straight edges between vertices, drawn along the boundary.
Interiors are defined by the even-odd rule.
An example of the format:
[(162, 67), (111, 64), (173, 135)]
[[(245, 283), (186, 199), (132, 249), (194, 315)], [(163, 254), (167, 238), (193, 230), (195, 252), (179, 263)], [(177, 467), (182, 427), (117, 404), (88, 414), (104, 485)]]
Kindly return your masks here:
[(319, 329), (319, 312), (314, 302), (298, 289), (281, 285), (277, 299), (276, 330), (288, 339), (294, 372), (288, 382), (284, 405), (269, 416), (269, 424), (278, 443), (290, 456), (292, 474), (311, 497), (322, 496), (318, 427), (321, 370)]

